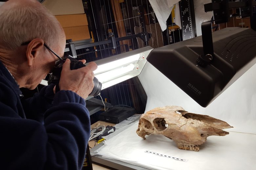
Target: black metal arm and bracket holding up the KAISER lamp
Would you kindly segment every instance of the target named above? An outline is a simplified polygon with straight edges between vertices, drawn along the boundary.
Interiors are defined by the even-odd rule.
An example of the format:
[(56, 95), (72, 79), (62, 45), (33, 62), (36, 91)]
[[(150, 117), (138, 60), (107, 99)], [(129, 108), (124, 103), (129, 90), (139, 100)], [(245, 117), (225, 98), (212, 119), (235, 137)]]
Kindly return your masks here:
[[(244, 8), (248, 11), (235, 15), (229, 14), (229, 9)], [(214, 0), (214, 2), (205, 4), (204, 11), (213, 11), (215, 24), (221, 24), (229, 21), (230, 17), (242, 16), (250, 17), (251, 28), (256, 31), (256, 1), (240, 1), (229, 2), (228, 0)], [(240, 10), (241, 11), (241, 10)], [(212, 21), (202, 23), (202, 40), (203, 40), (203, 55), (197, 59), (198, 65), (205, 67), (214, 59), (214, 50), (212, 42)]]

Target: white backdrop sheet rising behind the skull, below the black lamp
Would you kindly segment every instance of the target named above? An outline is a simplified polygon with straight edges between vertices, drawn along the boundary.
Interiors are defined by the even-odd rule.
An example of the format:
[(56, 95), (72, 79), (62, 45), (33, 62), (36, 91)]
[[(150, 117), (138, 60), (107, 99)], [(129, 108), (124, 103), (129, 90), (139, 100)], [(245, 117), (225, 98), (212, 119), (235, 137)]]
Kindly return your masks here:
[(192, 113), (221, 119), (234, 127), (228, 129), (229, 131), (256, 134), (255, 73), (256, 65), (203, 108), (147, 62), (139, 75), (148, 97), (145, 112), (156, 107), (176, 105)]

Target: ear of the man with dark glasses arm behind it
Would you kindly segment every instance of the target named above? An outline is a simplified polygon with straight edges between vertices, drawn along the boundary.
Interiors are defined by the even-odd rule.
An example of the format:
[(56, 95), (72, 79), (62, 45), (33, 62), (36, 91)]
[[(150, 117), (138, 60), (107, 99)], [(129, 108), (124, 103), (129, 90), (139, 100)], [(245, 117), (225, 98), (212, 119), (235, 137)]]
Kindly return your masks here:
[(40, 54), (40, 51), (44, 48), (44, 41), (40, 38), (33, 39), (27, 47), (27, 60), (28, 65), (31, 66), (33, 63), (33, 60), (38, 57)]

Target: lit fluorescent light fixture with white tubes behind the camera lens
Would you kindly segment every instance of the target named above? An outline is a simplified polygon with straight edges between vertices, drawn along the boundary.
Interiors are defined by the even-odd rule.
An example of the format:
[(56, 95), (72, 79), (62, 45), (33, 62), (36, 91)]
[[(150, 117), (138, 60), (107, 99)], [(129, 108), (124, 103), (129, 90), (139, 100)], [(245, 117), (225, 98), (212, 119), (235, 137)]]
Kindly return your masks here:
[(147, 46), (94, 61), (98, 65), (94, 74), (102, 83), (101, 90), (138, 76), (151, 50), (153, 48)]

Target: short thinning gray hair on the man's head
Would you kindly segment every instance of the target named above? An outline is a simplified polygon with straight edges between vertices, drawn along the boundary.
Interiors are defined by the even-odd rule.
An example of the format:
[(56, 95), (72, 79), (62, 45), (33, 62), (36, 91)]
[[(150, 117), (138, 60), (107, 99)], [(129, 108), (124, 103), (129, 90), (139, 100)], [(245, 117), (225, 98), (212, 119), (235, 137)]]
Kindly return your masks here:
[(16, 50), (22, 43), (41, 38), (57, 47), (60, 24), (44, 6), (0, 8), (0, 48)]

